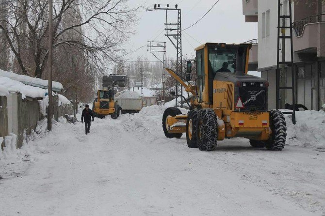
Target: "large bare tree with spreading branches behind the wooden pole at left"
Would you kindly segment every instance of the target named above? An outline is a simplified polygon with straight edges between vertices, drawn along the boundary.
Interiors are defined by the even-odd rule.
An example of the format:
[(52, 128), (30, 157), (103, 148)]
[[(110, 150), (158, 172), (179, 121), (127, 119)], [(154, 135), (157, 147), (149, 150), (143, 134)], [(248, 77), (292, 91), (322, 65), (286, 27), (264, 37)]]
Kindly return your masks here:
[[(15, 56), (15, 62), (24, 75), (42, 77), (48, 61), (48, 1), (6, 0), (0, 8), (0, 29)], [(123, 51), (121, 45), (132, 32), (137, 8), (129, 8), (129, 0), (54, 0), (53, 49), (74, 47), (87, 60), (92, 70), (103, 72), (109, 62), (117, 62)], [(63, 25), (71, 15), (79, 23)], [(79, 34), (80, 38), (66, 35)]]

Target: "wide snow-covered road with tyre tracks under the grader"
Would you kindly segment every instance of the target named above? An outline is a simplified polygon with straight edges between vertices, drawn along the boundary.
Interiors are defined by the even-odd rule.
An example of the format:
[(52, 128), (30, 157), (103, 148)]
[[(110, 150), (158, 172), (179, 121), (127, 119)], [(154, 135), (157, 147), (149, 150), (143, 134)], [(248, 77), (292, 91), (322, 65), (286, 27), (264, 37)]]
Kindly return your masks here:
[[(1, 216), (325, 215), (325, 152), (167, 139), (162, 111), (59, 124), (0, 181)], [(12, 168), (13, 170), (17, 168)]]

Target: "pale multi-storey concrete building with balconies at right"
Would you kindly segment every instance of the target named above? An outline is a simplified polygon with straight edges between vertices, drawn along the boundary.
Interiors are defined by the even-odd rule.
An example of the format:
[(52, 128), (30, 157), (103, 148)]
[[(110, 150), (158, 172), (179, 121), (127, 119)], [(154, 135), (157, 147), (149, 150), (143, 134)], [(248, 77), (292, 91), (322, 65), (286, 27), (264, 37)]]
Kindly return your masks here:
[[(321, 109), (325, 104), (325, 4), (322, 0), (292, 2), (293, 62), (296, 104)], [(252, 40), (249, 69), (261, 71), (270, 82), (269, 109), (276, 108), (277, 0), (243, 0), (246, 22), (258, 22), (258, 39)], [(281, 0), (280, 15), (289, 15), (288, 0)], [(286, 20), (289, 26), (289, 20)], [(289, 35), (287, 30), (286, 35)], [(280, 44), (282, 47), (282, 41)], [(285, 58), (290, 61), (290, 40), (285, 44)], [(280, 55), (280, 60), (282, 59)], [(281, 74), (291, 86), (291, 67)], [(281, 94), (282, 104), (292, 104), (291, 90)]]

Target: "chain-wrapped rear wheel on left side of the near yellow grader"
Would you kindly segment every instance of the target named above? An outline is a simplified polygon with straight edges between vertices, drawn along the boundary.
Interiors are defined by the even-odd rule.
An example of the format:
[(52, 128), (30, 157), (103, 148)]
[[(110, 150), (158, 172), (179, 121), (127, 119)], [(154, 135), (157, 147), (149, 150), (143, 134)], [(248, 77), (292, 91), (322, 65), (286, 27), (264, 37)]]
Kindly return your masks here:
[(207, 152), (214, 150), (218, 140), (218, 120), (213, 109), (200, 110), (196, 128), (199, 150)]

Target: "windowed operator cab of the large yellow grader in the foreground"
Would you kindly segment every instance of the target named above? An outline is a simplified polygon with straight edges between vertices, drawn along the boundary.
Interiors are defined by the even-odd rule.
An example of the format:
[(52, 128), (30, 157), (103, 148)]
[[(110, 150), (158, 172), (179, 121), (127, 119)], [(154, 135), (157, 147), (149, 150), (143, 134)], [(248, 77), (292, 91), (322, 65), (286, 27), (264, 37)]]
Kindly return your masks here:
[(235, 74), (236, 55), (239, 47), (244, 46), (243, 62), (244, 74), (247, 74), (248, 52), (250, 45), (227, 45), (224, 43), (207, 43), (199, 46), (196, 51), (197, 72), (197, 101), (212, 107), (213, 104), (213, 80), (217, 73)]

